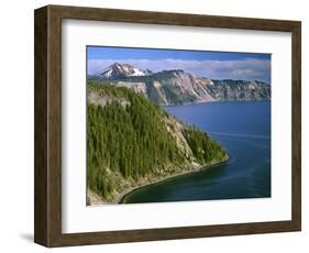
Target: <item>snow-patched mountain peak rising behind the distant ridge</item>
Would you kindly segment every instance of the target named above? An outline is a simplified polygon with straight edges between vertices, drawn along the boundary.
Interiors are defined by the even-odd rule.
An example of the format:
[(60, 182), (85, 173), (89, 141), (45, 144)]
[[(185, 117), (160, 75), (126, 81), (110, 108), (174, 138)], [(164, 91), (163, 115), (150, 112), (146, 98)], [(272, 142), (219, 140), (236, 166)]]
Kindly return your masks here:
[(148, 76), (152, 72), (148, 69), (142, 70), (130, 64), (114, 63), (107, 67), (99, 76), (103, 79), (117, 79), (131, 76)]

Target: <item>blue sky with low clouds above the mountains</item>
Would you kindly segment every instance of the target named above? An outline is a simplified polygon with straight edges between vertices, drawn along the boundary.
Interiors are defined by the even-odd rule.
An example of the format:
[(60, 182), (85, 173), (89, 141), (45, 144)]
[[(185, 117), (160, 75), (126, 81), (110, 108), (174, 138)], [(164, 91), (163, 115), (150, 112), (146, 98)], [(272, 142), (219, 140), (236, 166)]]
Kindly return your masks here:
[(184, 69), (212, 79), (271, 80), (271, 54), (88, 46), (88, 74), (128, 63), (159, 72)]

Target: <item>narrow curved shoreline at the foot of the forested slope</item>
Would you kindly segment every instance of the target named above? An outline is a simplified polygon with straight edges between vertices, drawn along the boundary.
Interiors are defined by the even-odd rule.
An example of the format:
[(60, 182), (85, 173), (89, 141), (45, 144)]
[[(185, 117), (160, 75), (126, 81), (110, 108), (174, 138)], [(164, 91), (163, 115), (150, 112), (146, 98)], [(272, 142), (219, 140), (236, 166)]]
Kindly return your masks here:
[(184, 170), (184, 172), (180, 172), (180, 173), (177, 173), (177, 174), (174, 174), (174, 175), (169, 175), (167, 177), (163, 177), (163, 178), (159, 178), (157, 180), (154, 180), (154, 182), (141, 185), (141, 186), (132, 187), (132, 188), (125, 190), (123, 194), (121, 194), (119, 196), (119, 198), (117, 198), (113, 202), (110, 202), (110, 204), (126, 204), (125, 202), (125, 198), (130, 194), (132, 194), (134, 191), (137, 191), (137, 190), (140, 190), (140, 189), (142, 189), (144, 187), (147, 187), (147, 186), (151, 186), (151, 185), (155, 185), (155, 184), (161, 184), (163, 182), (173, 179), (173, 178), (178, 177), (178, 176), (184, 176), (184, 175), (191, 174), (191, 173), (203, 172), (203, 170), (207, 170), (209, 168), (212, 168), (212, 167), (216, 167), (216, 166), (219, 166), (219, 165), (223, 165), (223, 164), (227, 164), (227, 163), (229, 163), (229, 157), (225, 161), (220, 161), (220, 162), (216, 162), (216, 163), (212, 163), (212, 164), (202, 165), (202, 166), (199, 166), (199, 167), (194, 168), (194, 169)]

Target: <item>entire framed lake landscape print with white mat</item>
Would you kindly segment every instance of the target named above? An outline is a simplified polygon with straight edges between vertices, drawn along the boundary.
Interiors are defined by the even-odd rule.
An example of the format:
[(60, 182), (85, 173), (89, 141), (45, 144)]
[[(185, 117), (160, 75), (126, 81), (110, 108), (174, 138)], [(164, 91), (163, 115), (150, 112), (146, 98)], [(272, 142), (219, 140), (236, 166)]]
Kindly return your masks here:
[(45, 246), (299, 231), (298, 21), (35, 10)]

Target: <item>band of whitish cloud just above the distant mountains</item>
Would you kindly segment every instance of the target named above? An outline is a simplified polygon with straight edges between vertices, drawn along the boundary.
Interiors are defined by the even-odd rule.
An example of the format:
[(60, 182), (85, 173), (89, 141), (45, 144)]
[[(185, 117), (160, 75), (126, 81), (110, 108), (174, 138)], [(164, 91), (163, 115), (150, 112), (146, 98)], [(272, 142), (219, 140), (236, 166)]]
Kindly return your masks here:
[(245, 58), (239, 61), (185, 61), (185, 59), (90, 59), (88, 73), (99, 73), (106, 67), (118, 63), (131, 64), (141, 69), (152, 72), (167, 69), (184, 69), (186, 72), (212, 79), (245, 79), (264, 80), (271, 79), (271, 61)]

